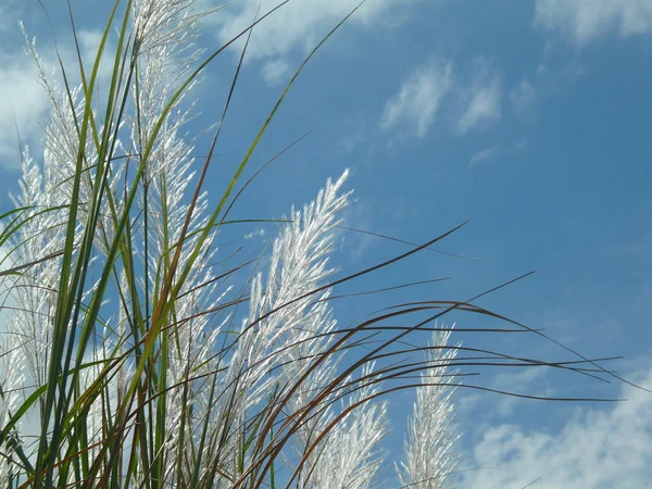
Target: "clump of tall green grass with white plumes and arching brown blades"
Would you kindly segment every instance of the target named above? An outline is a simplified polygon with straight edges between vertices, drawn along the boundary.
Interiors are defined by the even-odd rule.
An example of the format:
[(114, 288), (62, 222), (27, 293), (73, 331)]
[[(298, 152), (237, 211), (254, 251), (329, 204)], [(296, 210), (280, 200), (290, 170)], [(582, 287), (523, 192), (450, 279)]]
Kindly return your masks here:
[[(336, 275), (328, 256), (350, 201), (347, 172), (280, 223), (268, 261), (222, 251), (216, 239), (237, 223), (229, 212), (247, 196), (241, 176), (252, 153), (300, 72), (346, 18), (301, 64), (225, 190), (209, 201), (206, 171), (249, 35), (274, 12), (206, 52), (192, 47), (206, 14), (193, 8), (193, 0), (116, 0), (92, 66), (79, 55), (79, 86), (63, 63), (63, 84), (49, 77), (28, 41), (51, 117), (42, 159), (25, 149), (15, 209), (2, 216), (1, 278), (15, 306), (5, 302), (10, 322), (0, 338), (0, 486), (376, 487), (386, 475), (385, 397), (416, 389), (397, 474), (403, 487), (449, 487), (459, 461), (451, 396), (461, 366), (593, 375), (581, 366), (588, 360), (549, 363), (448, 344), (452, 328), (437, 319), (453, 310), (538, 334), (473, 305), (476, 298), (396, 304), (338, 327), (335, 287), (460, 227)], [(74, 35), (73, 20), (71, 11)], [(114, 54), (106, 51), (112, 33)], [(181, 136), (193, 115), (188, 99), (204, 67), (238, 39), (244, 48), (227, 102), (209, 155), (196, 162)], [(100, 62), (112, 73), (101, 97)], [(431, 343), (404, 348), (418, 330), (431, 330)]]

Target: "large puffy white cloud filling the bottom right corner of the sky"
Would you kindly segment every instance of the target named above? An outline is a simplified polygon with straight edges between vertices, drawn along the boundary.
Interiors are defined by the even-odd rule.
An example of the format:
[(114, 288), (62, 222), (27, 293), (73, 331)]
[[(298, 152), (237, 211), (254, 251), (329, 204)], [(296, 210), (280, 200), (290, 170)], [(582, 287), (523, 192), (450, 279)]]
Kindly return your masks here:
[[(639, 384), (652, 387), (652, 369)], [(623, 388), (625, 402), (587, 408), (556, 434), (503, 424), (476, 444), (463, 487), (639, 489), (652, 480), (652, 394)]]

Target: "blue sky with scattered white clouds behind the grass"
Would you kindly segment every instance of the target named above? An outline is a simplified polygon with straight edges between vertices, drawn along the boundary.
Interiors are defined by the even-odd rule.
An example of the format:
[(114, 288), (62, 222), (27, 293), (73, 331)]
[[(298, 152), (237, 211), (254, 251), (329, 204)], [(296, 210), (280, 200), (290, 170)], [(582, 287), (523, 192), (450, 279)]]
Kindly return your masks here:
[[(263, 11), (276, 4), (236, 0), (213, 14), (200, 46), (218, 47), (253, 18), (259, 3)], [(72, 4), (91, 53), (106, 2)], [(254, 32), (209, 190), (222, 188), (285, 83), (354, 4), (294, 0)], [(48, 9), (64, 61), (74, 63), (64, 2)], [(12, 108), (35, 154), (38, 122), (47, 121), (18, 18), (37, 36), (46, 61), (53, 60), (38, 2), (3, 0), (2, 209), (20, 177)], [(235, 61), (236, 52), (228, 52), (206, 72), (192, 129), (217, 121)], [(236, 211), (239, 217), (278, 217), (312, 199), (327, 176), (351, 167), (348, 185), (358, 201), (346, 214), (348, 226), (424, 242), (469, 220), (440, 246), (467, 259), (424, 252), (361, 280), (358, 289), (450, 276), (390, 300), (467, 299), (534, 269), (478, 305), (546, 328), (585, 355), (625, 355), (610, 366), (652, 386), (651, 87), (652, 0), (368, 0), (301, 74), (252, 168), (313, 133), (251, 186)], [(206, 145), (200, 139), (198, 154)], [(408, 250), (369, 236), (342, 237), (337, 262), (343, 267)], [(387, 305), (380, 298), (363, 304)], [(356, 318), (350, 308), (336, 312), (343, 324)], [(459, 327), (486, 323), (469, 315), (453, 319)], [(532, 336), (453, 338), (574, 360)], [(461, 487), (521, 488), (541, 477), (532, 487), (639, 488), (652, 478), (652, 394), (547, 371), (482, 372), (478, 384), (629, 401), (552, 404), (460, 391), (460, 448), (468, 468)], [(411, 402), (409, 396), (393, 400), (390, 450), (401, 442)]]

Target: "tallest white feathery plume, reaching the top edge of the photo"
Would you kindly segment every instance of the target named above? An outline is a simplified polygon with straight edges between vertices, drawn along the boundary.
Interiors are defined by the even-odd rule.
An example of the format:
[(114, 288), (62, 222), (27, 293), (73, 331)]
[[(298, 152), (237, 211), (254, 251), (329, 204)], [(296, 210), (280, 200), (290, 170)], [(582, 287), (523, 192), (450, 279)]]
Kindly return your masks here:
[[(190, 74), (192, 63), (203, 50), (192, 51), (191, 39), (196, 35), (196, 21), (199, 15), (191, 15), (193, 0), (142, 0), (135, 2), (135, 30), (140, 39), (138, 46), (139, 71), (138, 91), (133, 90), (133, 99), (138, 106), (137, 117), (130, 120), (131, 147), (136, 149), (135, 160), (138, 162), (146, 147), (154, 135), (155, 126), (161, 118), (172, 96), (181, 80)], [(147, 204), (147, 228), (142, 229), (143, 239), (148, 240), (142, 253), (143, 265), (148, 276), (142, 281), (142, 290), (150, 291), (160, 286), (160, 273), (174, 253), (174, 247), (181, 237), (181, 229), (189, 212), (187, 196), (190, 192), (193, 172), (190, 171), (193, 148), (181, 137), (179, 131), (191, 117), (193, 104), (181, 110), (185, 97), (196, 86), (196, 82), (186, 87), (163, 120), (155, 142), (148, 158), (143, 175), (143, 187), (140, 202)], [(185, 268), (191, 258), (191, 251), (200, 239), (193, 233), (209, 224), (206, 217), (206, 193), (200, 195), (192, 210), (190, 226), (181, 247), (177, 273)], [(218, 365), (213, 360), (215, 342), (221, 327), (208, 330), (210, 316), (198, 314), (216, 306), (230, 291), (230, 287), (217, 291), (215, 273), (209, 265), (217, 249), (213, 247), (216, 233), (211, 233), (203, 241), (202, 259), (197, 262), (186, 277), (180, 297), (175, 301), (174, 315), (168, 318), (175, 327), (171, 329), (167, 344), (161, 354), (166, 355), (166, 383), (183, 384), (187, 376), (202, 376), (215, 371)], [(201, 264), (200, 264), (201, 263)], [(163, 344), (161, 344), (163, 347)], [(203, 388), (202, 388), (203, 387)], [(181, 413), (184, 408), (192, 406), (192, 416), (203, 419), (209, 415), (208, 389), (205, 380), (190, 383), (189, 389), (177, 387), (166, 396), (165, 432), (163, 460), (164, 472), (175, 471), (174, 456), (178, 450), (180, 437)], [(185, 443), (191, 442), (193, 426), (186, 424)], [(179, 475), (177, 474), (176, 477)], [(174, 475), (170, 484), (174, 484)]]

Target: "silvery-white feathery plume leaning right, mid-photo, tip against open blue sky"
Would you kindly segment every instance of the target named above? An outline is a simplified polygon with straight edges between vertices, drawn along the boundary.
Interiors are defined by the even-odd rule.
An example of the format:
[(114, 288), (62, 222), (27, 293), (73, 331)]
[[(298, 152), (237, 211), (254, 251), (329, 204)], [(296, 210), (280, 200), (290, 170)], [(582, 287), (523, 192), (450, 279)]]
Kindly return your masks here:
[[(291, 223), (273, 243), (266, 288), (263, 288), (262, 274), (252, 280), (249, 315), (242, 322), (224, 379), (230, 390), (223, 399), (222, 411), (233, 418), (233, 450), (237, 450), (238, 427), (246, 415), (255, 411), (261, 402), (267, 402), (275, 386), (279, 389), (277, 397), (283, 397), (303, 368), (292, 371), (299, 364), (286, 366), (277, 378), (278, 373), (273, 373), (273, 366), (306, 351), (306, 343), (292, 347), (298, 340), (328, 333), (335, 325), (326, 304), (317, 302), (325, 300), (328, 291), (299, 298), (323, 285), (333, 273), (327, 267), (327, 258), (333, 249), (331, 231), (339, 223), (338, 213), (350, 196), (350, 192), (339, 195), (348, 174), (346, 171), (335, 183), (328, 179), (326, 187), (303, 212), (292, 209)], [(267, 314), (272, 311), (276, 312)], [(312, 341), (313, 347), (327, 344), (327, 341)], [(302, 402), (308, 398), (300, 391), (297, 399), (304, 405)]]

